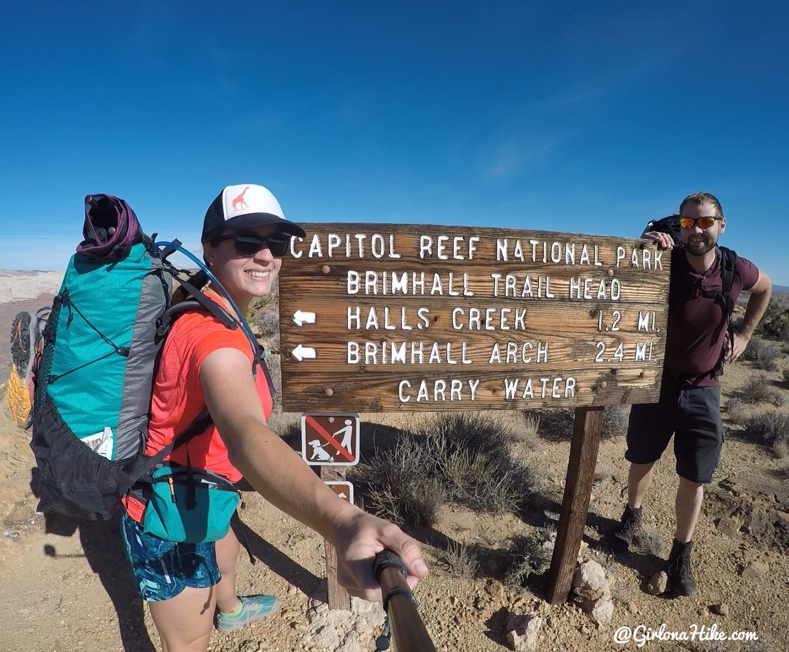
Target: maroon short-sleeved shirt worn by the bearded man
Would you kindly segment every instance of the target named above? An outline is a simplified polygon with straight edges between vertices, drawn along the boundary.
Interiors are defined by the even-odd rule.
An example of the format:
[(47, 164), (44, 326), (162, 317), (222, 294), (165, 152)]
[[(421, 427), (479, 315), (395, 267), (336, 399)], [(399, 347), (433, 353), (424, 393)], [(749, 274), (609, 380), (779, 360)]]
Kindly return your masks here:
[[(712, 267), (699, 273), (683, 254), (671, 264), (666, 367), (690, 376), (686, 384), (705, 387), (718, 384), (709, 373), (715, 368), (724, 346), (727, 320), (724, 304), (713, 298), (694, 296), (695, 290), (723, 290), (720, 276), (720, 252)], [(736, 302), (742, 290), (750, 290), (759, 279), (759, 270), (750, 260), (737, 257), (731, 301)]]

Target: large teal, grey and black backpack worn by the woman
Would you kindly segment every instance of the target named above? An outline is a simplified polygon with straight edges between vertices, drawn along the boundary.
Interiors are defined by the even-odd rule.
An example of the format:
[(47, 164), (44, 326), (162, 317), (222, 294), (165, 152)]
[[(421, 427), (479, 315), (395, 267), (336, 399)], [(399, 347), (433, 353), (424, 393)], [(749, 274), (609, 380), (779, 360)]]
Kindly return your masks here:
[[(142, 455), (156, 366), (174, 320), (190, 310), (242, 328), (255, 352), (253, 373), (260, 365), (271, 388), (264, 351), (232, 302), (237, 317), (166, 259), (180, 250), (200, 261), (178, 241), (156, 243), (145, 235), (124, 200), (88, 196), (83, 236), (54, 298), (33, 375), (38, 509), (109, 519), (132, 491), (147, 503), (144, 526), (151, 534), (172, 541), (221, 538), (241, 502), (234, 485), (190, 463), (163, 462), (211, 425), (208, 410), (157, 455)], [(173, 280), (189, 300), (172, 305)]]

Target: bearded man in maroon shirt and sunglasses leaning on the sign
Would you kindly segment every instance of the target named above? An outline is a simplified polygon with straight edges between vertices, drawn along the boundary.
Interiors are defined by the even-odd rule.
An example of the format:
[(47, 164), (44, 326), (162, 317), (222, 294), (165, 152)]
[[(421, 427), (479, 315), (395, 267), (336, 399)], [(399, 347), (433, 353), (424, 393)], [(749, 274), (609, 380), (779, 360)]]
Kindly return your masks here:
[[(679, 489), (676, 496), (676, 531), (667, 573), (675, 595), (696, 590), (690, 568), (693, 534), (701, 511), (703, 486), (712, 482), (720, 462), (723, 426), (720, 420), (718, 375), (722, 362), (734, 362), (745, 350), (765, 313), (771, 293), (764, 272), (738, 257), (731, 287), (731, 305), (742, 290), (750, 299), (739, 332), (729, 337), (724, 301), (702, 293), (722, 290), (722, 256), (718, 238), (726, 229), (720, 202), (708, 193), (695, 193), (679, 206), (680, 237), (684, 247), (671, 253), (671, 292), (668, 333), (660, 402), (634, 405), (627, 431), (630, 462), (627, 505), (614, 546), (626, 551), (642, 519), (641, 503), (653, 466), (674, 436)], [(675, 246), (670, 234), (645, 232), (642, 238), (660, 249)]]

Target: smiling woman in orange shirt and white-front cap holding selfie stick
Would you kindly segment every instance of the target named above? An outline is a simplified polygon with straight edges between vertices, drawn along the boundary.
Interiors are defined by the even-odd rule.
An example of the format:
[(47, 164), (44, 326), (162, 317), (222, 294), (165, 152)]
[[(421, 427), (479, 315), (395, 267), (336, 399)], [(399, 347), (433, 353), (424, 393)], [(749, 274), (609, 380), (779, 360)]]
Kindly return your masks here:
[[(204, 260), (237, 307), (271, 291), (290, 237), (304, 237), (261, 185), (228, 186), (206, 212)], [(198, 287), (207, 280), (194, 279)], [(201, 281), (203, 283), (201, 283)], [(208, 297), (230, 311), (211, 286)], [(232, 314), (232, 311), (230, 311)], [(230, 330), (202, 311), (178, 318), (163, 345), (151, 399), (146, 455), (174, 440), (205, 407), (215, 426), (169, 458), (237, 482), (246, 480), (276, 507), (312, 527), (338, 552), (338, 579), (350, 594), (380, 600), (373, 557), (398, 553), (416, 586), (427, 575), (418, 546), (398, 527), (338, 500), (301, 457), (271, 429), (271, 394), (264, 373), (252, 377), (252, 349), (241, 329)], [(206, 650), (215, 610), (220, 631), (274, 613), (271, 595), (238, 597), (234, 579), (239, 543), (233, 530), (216, 542), (163, 541), (140, 526), (143, 505), (125, 499), (123, 536), (140, 594), (148, 601), (165, 652)], [(208, 609), (206, 608), (208, 606)]]

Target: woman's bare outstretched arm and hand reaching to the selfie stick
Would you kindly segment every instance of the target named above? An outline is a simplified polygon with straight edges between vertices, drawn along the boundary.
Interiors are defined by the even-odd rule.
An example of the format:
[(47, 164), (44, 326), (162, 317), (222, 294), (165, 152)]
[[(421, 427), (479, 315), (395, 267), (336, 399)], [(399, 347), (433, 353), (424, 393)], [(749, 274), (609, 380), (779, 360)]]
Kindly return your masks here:
[(402, 557), (411, 586), (427, 575), (416, 541), (392, 523), (338, 498), (268, 428), (245, 354), (231, 348), (208, 354), (200, 367), (200, 383), (230, 463), (271, 504), (335, 545), (338, 579), (350, 593), (366, 600), (381, 599), (372, 562), (384, 548)]

